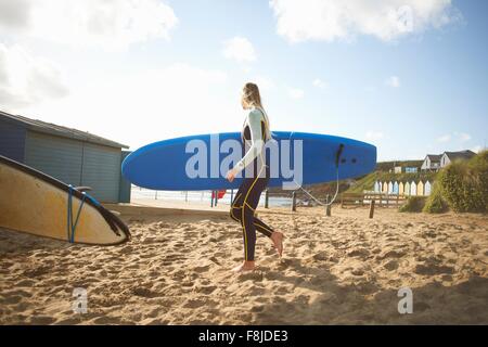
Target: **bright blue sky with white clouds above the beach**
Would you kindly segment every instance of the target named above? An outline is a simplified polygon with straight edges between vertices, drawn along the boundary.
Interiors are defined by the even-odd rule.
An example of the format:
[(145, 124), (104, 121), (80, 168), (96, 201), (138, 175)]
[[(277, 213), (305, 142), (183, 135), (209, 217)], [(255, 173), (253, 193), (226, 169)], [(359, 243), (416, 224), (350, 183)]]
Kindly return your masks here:
[(239, 131), (256, 81), (274, 130), (363, 140), (380, 160), (488, 140), (483, 0), (74, 3), (0, 4), (0, 110), (137, 149)]

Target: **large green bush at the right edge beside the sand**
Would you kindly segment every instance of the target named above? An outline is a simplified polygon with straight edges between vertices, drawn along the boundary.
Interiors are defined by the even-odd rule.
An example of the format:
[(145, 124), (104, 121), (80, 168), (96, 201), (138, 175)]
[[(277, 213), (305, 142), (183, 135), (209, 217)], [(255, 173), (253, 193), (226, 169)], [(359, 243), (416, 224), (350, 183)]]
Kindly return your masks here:
[(438, 176), (441, 194), (457, 213), (488, 211), (488, 152), (454, 162)]

